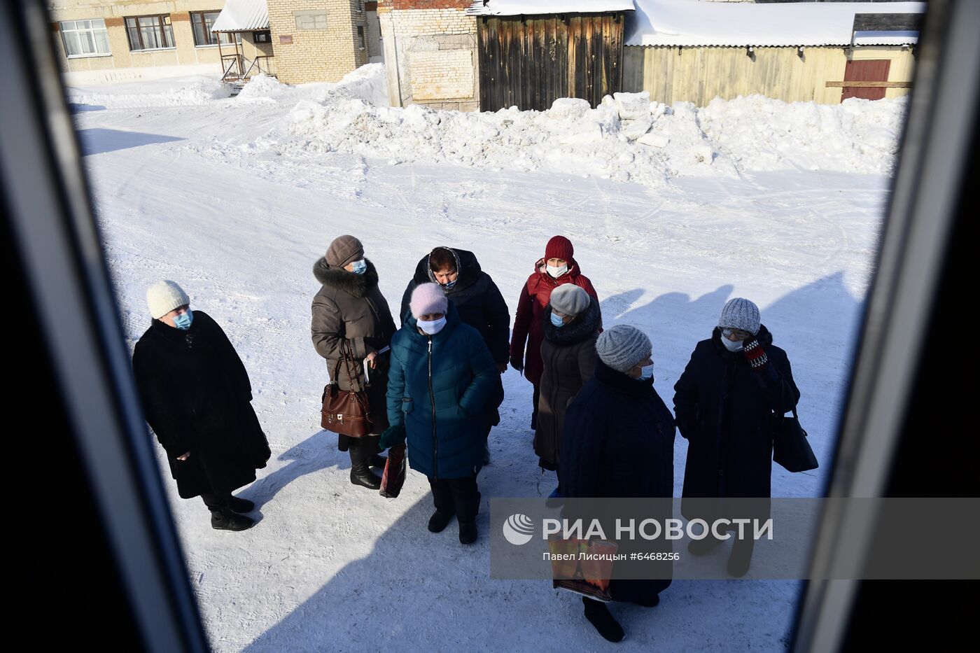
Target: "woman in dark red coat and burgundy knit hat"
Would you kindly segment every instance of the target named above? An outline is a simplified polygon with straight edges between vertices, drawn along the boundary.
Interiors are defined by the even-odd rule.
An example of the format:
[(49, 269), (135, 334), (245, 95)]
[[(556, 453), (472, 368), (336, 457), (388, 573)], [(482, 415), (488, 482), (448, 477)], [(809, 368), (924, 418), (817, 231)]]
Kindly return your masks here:
[[(545, 247), (545, 256), (534, 264), (534, 274), (517, 300), (514, 333), (511, 336), (511, 365), (534, 385), (534, 409), (531, 413), (531, 429), (538, 427), (538, 397), (541, 393), (541, 343), (544, 330), (545, 307), (551, 300), (552, 290), (564, 283), (574, 283), (599, 299), (588, 276), (582, 275), (574, 259), (575, 248), (562, 235), (554, 236)], [(600, 325), (602, 324), (600, 320)], [(602, 330), (602, 326), (600, 326)], [(526, 345), (526, 349), (525, 349)]]

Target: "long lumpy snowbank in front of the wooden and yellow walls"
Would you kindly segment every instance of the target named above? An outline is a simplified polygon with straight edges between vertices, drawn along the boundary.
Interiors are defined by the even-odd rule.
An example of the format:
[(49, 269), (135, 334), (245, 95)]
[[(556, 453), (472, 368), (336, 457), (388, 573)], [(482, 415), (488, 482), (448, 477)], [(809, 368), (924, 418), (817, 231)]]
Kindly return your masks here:
[[(363, 69), (362, 69), (363, 70)], [(380, 75), (383, 69), (378, 67)], [(370, 73), (363, 81), (371, 86)], [(338, 86), (340, 86), (338, 84)], [(345, 152), (391, 164), (449, 163), (599, 176), (661, 185), (674, 176), (833, 170), (891, 172), (906, 101), (787, 104), (761, 96), (667, 107), (616, 93), (592, 109), (574, 98), (548, 111), (436, 111), (375, 106), (350, 92), (301, 100), (255, 145), (280, 154)]]

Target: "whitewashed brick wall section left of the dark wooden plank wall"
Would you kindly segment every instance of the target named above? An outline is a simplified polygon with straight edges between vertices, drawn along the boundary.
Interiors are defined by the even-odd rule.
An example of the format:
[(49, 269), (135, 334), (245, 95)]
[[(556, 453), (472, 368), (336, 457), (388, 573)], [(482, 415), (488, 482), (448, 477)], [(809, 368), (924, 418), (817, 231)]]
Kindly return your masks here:
[(479, 110), (476, 20), (469, 0), (386, 0), (378, 19), (392, 106)]

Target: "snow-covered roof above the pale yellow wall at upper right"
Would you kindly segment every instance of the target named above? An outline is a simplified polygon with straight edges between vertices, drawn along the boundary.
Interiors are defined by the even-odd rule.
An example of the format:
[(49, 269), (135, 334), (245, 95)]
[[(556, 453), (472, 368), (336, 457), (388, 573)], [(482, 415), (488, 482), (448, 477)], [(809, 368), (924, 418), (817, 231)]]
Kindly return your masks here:
[[(635, 0), (626, 45), (851, 45), (855, 14), (921, 14), (924, 2), (727, 3)], [(915, 31), (858, 31), (856, 45), (915, 43)]]

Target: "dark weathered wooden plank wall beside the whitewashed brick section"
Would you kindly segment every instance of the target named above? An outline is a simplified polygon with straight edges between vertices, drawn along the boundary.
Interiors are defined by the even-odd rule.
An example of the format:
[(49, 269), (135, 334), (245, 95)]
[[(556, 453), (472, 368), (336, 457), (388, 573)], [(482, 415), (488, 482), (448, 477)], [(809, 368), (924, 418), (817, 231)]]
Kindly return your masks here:
[(592, 106), (620, 89), (622, 14), (477, 19), (480, 110), (544, 111), (560, 97)]

